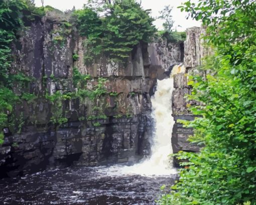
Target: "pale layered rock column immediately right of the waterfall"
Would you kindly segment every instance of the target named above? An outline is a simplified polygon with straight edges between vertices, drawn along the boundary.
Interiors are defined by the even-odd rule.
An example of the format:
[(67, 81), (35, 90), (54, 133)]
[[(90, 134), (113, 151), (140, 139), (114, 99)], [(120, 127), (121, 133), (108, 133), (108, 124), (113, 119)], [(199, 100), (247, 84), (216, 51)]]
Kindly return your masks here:
[[(182, 124), (178, 123), (178, 119), (193, 120), (195, 117), (188, 109), (190, 105), (195, 105), (195, 101), (186, 101), (185, 95), (191, 93), (191, 86), (188, 86), (188, 75), (198, 74), (196, 67), (202, 64), (202, 59), (209, 55), (210, 51), (203, 47), (202, 34), (205, 30), (198, 27), (187, 29), (187, 39), (184, 42), (184, 65), (186, 73), (180, 73), (174, 76), (173, 91), (173, 115), (176, 123), (172, 132), (172, 147), (173, 153), (178, 153), (180, 150), (197, 152), (199, 147), (187, 141), (188, 137), (193, 134), (190, 128), (184, 128)], [(176, 166), (179, 166), (178, 160), (174, 160)]]

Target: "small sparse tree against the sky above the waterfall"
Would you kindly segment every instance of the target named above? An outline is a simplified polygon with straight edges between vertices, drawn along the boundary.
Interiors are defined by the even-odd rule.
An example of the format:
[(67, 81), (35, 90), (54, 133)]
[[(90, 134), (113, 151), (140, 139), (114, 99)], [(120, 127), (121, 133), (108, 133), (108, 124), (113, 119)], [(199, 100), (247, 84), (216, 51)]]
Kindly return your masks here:
[(158, 19), (162, 19), (162, 20), (165, 20), (164, 24), (163, 24), (163, 27), (164, 27), (164, 30), (171, 33), (173, 31), (173, 17), (171, 15), (172, 13), (172, 10), (173, 8), (168, 5), (168, 6), (165, 6), (165, 8), (159, 12), (160, 13), (160, 16), (158, 17)]

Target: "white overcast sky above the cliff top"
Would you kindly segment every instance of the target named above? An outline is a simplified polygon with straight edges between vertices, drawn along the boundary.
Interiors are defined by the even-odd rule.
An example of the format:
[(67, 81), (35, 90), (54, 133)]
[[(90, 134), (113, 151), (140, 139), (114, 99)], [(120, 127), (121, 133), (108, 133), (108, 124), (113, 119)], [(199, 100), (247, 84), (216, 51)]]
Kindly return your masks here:
[[(142, 6), (144, 9), (151, 9), (152, 16), (155, 18), (159, 16), (159, 11), (161, 11), (164, 6), (171, 5), (173, 7), (173, 20), (175, 21), (174, 27), (178, 31), (185, 31), (187, 28), (200, 26), (199, 22), (196, 22), (192, 19), (186, 19), (186, 13), (180, 12), (180, 9), (177, 9), (182, 3), (187, 0), (142, 0)], [(36, 6), (41, 7), (41, 0), (35, 0)], [(76, 9), (81, 9), (86, 3), (86, 0), (44, 0), (44, 5), (50, 5), (56, 9), (66, 11), (72, 9), (75, 6)], [(162, 20), (156, 20), (155, 25), (158, 29), (162, 29)], [(180, 25), (181, 27), (178, 27)]]

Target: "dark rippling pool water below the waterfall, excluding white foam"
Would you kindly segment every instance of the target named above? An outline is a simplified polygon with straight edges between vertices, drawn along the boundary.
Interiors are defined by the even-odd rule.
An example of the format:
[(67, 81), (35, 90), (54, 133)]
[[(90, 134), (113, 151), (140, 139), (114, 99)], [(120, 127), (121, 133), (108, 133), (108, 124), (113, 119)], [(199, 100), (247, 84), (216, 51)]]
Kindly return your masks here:
[(156, 204), (177, 175), (108, 175), (104, 167), (52, 169), (0, 180), (0, 204)]

